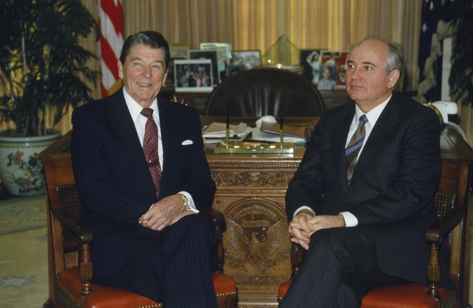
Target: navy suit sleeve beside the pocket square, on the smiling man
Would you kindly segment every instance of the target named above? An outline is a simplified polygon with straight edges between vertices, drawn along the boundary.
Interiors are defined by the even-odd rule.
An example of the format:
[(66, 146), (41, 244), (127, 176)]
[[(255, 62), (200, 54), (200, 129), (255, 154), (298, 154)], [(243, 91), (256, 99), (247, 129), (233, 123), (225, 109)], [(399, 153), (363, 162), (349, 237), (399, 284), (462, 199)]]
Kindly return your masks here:
[(186, 181), (180, 187), (180, 191), (187, 191), (192, 196), (197, 210), (208, 211), (212, 205), (215, 183), (210, 175), (210, 168), (204, 152), (199, 114), (194, 109), (190, 110), (192, 113), (190, 123), (193, 123), (190, 129), (193, 133), (194, 145), (191, 161), (185, 162), (189, 163), (189, 173), (186, 175)]

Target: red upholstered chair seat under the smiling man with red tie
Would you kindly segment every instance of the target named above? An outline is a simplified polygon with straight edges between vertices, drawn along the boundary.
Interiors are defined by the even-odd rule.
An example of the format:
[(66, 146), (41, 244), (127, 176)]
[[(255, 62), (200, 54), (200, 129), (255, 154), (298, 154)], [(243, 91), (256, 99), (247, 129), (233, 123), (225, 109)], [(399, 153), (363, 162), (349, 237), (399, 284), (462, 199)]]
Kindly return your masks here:
[[(217, 298), (235, 294), (235, 280), (220, 273), (213, 273), (213, 285)], [(79, 267), (70, 268), (57, 277), (59, 287), (63, 288), (77, 303), (80, 302), (81, 280)], [(116, 308), (116, 307), (161, 307), (147, 297), (136, 295), (112, 286), (92, 285), (94, 290), (84, 301), (84, 308)]]

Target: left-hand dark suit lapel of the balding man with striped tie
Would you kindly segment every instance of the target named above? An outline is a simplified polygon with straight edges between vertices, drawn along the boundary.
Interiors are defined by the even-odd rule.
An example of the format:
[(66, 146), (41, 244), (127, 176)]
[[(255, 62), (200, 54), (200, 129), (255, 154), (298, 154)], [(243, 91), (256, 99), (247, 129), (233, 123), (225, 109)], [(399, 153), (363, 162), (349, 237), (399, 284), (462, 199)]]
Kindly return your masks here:
[(334, 159), (336, 166), (336, 174), (340, 187), (343, 188), (346, 193), (348, 189), (348, 184), (346, 181), (346, 163), (345, 163), (345, 144), (346, 136), (348, 136), (348, 130), (350, 129), (350, 124), (353, 121), (355, 115), (355, 103), (349, 102), (345, 114), (341, 117), (341, 122), (338, 125), (338, 129), (334, 132), (333, 140), (333, 151)]

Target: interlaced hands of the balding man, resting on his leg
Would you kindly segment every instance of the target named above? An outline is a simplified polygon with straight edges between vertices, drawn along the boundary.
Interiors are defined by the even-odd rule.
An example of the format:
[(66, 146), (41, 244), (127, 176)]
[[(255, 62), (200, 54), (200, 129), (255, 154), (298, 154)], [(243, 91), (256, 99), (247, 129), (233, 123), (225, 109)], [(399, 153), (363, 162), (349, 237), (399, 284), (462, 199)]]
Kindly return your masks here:
[(309, 248), (310, 236), (320, 230), (343, 227), (345, 221), (341, 215), (318, 215), (300, 213), (294, 216), (289, 223), (291, 242), (301, 245), (305, 250)]

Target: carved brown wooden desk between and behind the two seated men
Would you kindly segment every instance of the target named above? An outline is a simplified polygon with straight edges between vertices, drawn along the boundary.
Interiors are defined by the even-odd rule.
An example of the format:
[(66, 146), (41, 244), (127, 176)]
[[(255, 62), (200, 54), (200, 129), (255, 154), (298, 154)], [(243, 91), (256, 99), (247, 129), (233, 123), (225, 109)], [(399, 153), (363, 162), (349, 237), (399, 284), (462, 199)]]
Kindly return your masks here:
[[(234, 118), (232, 123), (252, 124), (256, 118)], [(202, 118), (202, 123), (224, 122), (223, 118)], [(310, 125), (318, 119), (287, 118), (287, 124)], [(446, 126), (440, 137), (442, 159), (473, 160), (473, 149)], [(40, 155), (70, 159), (70, 132)], [(287, 233), (284, 195), (304, 155), (304, 147), (294, 154), (214, 154), (205, 153), (217, 185), (213, 207), (225, 215), (223, 233), (224, 272), (237, 283), (239, 306), (277, 307), (277, 287), (291, 274), (290, 241)]]

